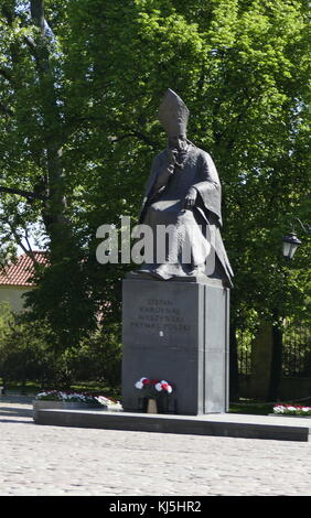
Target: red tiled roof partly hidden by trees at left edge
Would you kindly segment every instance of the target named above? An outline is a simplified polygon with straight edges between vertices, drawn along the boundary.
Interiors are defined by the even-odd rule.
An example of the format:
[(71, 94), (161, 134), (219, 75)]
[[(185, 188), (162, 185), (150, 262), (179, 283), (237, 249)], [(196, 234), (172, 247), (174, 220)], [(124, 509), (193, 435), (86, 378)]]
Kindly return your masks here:
[[(44, 251), (34, 251), (33, 253), (37, 262), (46, 263)], [(22, 253), (17, 263), (12, 262), (4, 270), (0, 270), (0, 285), (34, 285), (33, 282), (29, 281), (32, 273), (33, 261), (26, 253)]]

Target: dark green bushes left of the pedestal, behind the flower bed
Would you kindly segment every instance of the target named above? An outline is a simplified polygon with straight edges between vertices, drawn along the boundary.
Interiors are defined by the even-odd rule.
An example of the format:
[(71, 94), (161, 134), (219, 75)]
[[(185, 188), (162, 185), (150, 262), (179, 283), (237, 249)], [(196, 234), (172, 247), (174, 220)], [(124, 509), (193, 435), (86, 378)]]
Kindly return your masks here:
[(0, 376), (3, 384), (39, 381), (69, 388), (74, 381), (117, 387), (121, 378), (119, 327), (100, 328), (78, 346), (58, 350), (44, 321), (30, 321), (0, 305)]

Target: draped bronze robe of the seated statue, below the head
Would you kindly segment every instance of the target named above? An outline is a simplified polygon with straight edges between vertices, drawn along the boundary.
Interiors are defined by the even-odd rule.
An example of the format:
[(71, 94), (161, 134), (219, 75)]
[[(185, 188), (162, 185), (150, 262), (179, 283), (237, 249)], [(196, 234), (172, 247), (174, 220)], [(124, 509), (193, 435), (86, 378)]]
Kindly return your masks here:
[[(153, 262), (143, 265), (139, 271), (163, 280), (186, 277), (200, 271), (207, 277), (221, 278), (227, 285), (232, 285), (233, 271), (219, 231), (222, 188), (215, 164), (208, 153), (192, 143), (182, 168), (170, 165), (168, 153), (168, 149), (162, 151), (152, 162), (140, 223), (149, 225), (154, 236), (158, 225), (183, 228), (192, 248), (192, 259), (191, 263), (183, 262), (179, 250), (181, 242), (176, 233), (176, 238), (168, 245), (165, 260), (157, 262), (157, 250), (154, 250)], [(161, 182), (161, 179), (164, 180)], [(184, 211), (184, 198), (190, 187), (196, 190), (197, 197), (192, 211)], [(213, 233), (211, 233), (212, 227)], [(210, 245), (206, 247), (207, 241)], [(156, 239), (154, 246), (157, 248)], [(206, 253), (204, 257), (204, 250), (208, 257)], [(211, 261), (214, 271), (211, 271)]]

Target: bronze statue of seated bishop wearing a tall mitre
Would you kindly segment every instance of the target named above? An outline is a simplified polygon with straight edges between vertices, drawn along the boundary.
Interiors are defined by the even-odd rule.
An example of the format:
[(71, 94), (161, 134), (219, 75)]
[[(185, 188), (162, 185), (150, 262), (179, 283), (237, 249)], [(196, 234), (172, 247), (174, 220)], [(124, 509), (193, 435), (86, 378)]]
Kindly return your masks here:
[[(154, 234), (154, 260), (142, 265), (137, 273), (160, 280), (207, 276), (232, 287), (233, 271), (219, 231), (218, 174), (210, 154), (187, 140), (187, 119), (185, 104), (169, 89), (159, 109), (168, 148), (153, 160), (140, 215), (140, 224), (151, 227)], [(175, 229), (160, 262), (156, 257), (159, 226)], [(191, 251), (189, 261), (183, 260), (185, 242)]]

